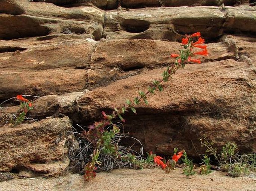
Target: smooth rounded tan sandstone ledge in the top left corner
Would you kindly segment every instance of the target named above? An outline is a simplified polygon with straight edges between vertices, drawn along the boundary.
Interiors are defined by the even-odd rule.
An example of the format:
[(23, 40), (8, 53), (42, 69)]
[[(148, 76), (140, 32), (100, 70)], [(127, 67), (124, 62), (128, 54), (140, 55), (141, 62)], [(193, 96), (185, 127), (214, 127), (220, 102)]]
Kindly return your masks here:
[(44, 36), (67, 29), (75, 34), (92, 34), (95, 39), (102, 36), (104, 12), (95, 7), (64, 8), (24, 0), (17, 4), (25, 10), (23, 15), (0, 15), (0, 39)]

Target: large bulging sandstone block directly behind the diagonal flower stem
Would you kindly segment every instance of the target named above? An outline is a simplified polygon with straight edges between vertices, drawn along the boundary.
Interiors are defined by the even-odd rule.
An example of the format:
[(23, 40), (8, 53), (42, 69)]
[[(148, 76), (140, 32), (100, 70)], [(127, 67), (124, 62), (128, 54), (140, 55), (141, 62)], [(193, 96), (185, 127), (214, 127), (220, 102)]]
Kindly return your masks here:
[[(247, 52), (252, 62), (227, 59), (187, 65), (164, 85), (163, 92), (148, 99), (149, 105), (136, 108), (138, 115), (124, 115), (125, 130), (136, 133), (145, 150), (170, 155), (173, 147), (179, 147), (197, 157), (194, 146), (204, 153), (199, 139), (206, 135), (218, 149), (230, 141), (241, 152), (255, 152), (255, 39), (226, 38), (237, 46), (238, 55)], [(83, 124), (101, 118), (101, 111), (121, 107), (126, 98), (132, 99), (152, 79), (160, 78), (162, 71), (142, 72), (87, 92), (78, 101)]]

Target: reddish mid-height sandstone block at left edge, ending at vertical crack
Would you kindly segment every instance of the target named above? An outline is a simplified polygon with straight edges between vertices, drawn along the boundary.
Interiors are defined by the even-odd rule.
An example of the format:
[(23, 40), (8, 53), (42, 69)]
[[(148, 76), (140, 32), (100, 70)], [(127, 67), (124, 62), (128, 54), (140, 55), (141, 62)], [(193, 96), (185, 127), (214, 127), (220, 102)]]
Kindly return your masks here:
[[(6, 100), (20, 93), (42, 96), (83, 92), (86, 89), (85, 72), (90, 68), (95, 42), (77, 41), (73, 38), (75, 35), (66, 35), (65, 38), (68, 36), (71, 38), (66, 40), (60, 36), (51, 40), (40, 38), (40, 41), (36, 38), (32, 41), (1, 41), (5, 48), (2, 48), (4, 52), (0, 58), (0, 81), (4, 82), (0, 83), (0, 99)], [(13, 51), (21, 48), (15, 47), (25, 51), (16, 54)]]

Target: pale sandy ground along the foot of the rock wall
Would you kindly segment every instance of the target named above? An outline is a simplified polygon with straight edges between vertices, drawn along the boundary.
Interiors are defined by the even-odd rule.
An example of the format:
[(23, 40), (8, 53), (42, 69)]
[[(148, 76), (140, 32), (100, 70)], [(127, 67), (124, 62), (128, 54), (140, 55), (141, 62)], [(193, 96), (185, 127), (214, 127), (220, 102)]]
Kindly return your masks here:
[(231, 178), (222, 172), (208, 175), (182, 174), (175, 169), (166, 174), (161, 169), (118, 169), (110, 173), (101, 172), (91, 181), (83, 176), (68, 174), (58, 178), (12, 179), (0, 182), (1, 191), (256, 191), (256, 174)]

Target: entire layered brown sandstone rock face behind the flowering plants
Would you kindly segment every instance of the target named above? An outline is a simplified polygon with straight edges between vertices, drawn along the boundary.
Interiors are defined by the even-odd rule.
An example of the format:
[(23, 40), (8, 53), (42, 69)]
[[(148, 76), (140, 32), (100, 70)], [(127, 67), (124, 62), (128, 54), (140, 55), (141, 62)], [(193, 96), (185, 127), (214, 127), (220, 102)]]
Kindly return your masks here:
[(174, 62), (184, 34), (198, 31), (209, 57), (178, 70), (137, 115), (125, 114), (125, 131), (163, 155), (179, 147), (197, 157), (204, 136), (218, 148), (231, 141), (255, 152), (256, 9), (221, 3), (0, 1), (0, 101), (41, 96), (32, 124), (8, 126), (2, 119), (17, 103), (0, 105), (0, 171), (65, 172), (71, 125), (90, 125), (145, 91)]

